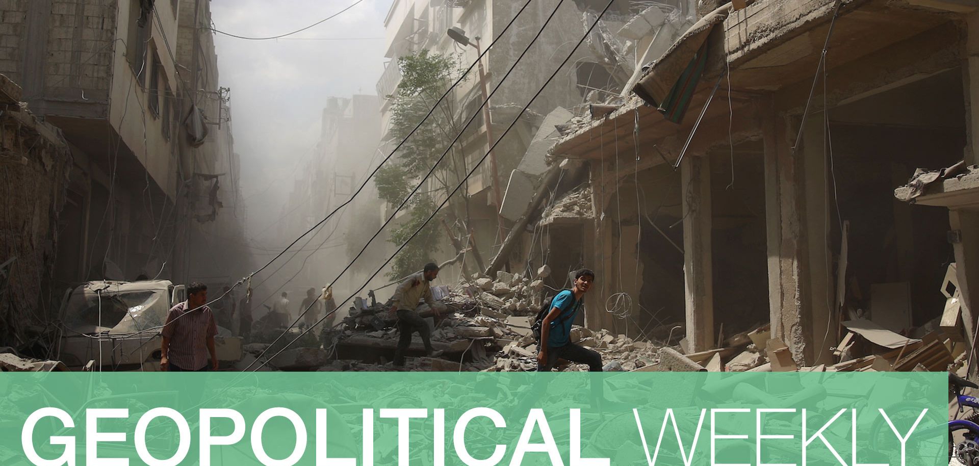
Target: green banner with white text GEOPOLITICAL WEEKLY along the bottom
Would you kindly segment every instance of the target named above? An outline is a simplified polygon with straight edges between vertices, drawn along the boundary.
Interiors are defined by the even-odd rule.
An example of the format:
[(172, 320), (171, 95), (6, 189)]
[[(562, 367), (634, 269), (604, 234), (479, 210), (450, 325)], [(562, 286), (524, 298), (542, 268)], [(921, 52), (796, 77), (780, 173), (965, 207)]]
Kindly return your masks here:
[(947, 465), (945, 373), (3, 373), (0, 464)]

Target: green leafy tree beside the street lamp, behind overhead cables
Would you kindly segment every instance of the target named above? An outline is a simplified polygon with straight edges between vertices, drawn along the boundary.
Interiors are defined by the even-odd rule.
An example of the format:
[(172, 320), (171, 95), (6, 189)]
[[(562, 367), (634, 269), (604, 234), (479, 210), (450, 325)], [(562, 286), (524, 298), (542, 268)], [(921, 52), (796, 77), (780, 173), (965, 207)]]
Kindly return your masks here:
[[(466, 170), (461, 147), (452, 145), (462, 125), (453, 109), (451, 96), (439, 102), (439, 98), (462, 73), (458, 57), (422, 50), (399, 58), (397, 66), (401, 71), (401, 81), (396, 94), (389, 96), (393, 99), (391, 134), (397, 141), (407, 140), (398, 150), (394, 163), (382, 166), (374, 178), (380, 198), (391, 205), (400, 205), (448, 149), (443, 162), (422, 189), (408, 201), (406, 221), (390, 235), (388, 241), (400, 246), (455, 189), (465, 177)], [(408, 137), (433, 107), (435, 112), (432, 116)], [(465, 196), (461, 198), (465, 200)], [(448, 206), (453, 215), (460, 217), (456, 212), (458, 203), (450, 202)], [(392, 271), (389, 272), (391, 278), (403, 277), (432, 260), (439, 249), (436, 225), (444, 215), (445, 211), (439, 212), (434, 221), (395, 257)]]

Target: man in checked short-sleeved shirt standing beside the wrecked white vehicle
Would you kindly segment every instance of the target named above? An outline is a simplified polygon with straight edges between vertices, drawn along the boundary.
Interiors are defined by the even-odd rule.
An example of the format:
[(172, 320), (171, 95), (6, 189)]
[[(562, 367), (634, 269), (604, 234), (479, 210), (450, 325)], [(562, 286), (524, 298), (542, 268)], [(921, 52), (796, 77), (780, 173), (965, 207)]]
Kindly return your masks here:
[[(217, 324), (210, 312), (208, 286), (191, 283), (187, 301), (174, 305), (166, 314), (163, 326), (160, 369), (169, 372), (217, 370), (214, 335)], [(208, 355), (210, 354), (210, 365)]]

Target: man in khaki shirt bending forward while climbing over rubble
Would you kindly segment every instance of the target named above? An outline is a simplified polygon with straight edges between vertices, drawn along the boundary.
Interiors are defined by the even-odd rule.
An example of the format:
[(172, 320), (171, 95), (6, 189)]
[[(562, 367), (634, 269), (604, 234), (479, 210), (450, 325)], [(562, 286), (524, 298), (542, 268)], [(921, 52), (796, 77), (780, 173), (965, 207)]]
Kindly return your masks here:
[(425, 268), (421, 273), (416, 273), (411, 275), (400, 285), (397, 286), (395, 291), (395, 296), (392, 297), (394, 304), (391, 306), (391, 312), (397, 313), (397, 349), (395, 350), (395, 365), (404, 365), (404, 350), (408, 349), (411, 345), (411, 335), (418, 332), (422, 337), (422, 343), (425, 345), (425, 351), (428, 352), (429, 357), (438, 357), (442, 355), (442, 351), (436, 351), (432, 349), (432, 329), (429, 328), (428, 322), (425, 321), (415, 308), (418, 307), (418, 302), (425, 300), (432, 307), (432, 310), (436, 310), (435, 300), (432, 298), (432, 287), (430, 283), (439, 276), (439, 265), (434, 262), (429, 262), (425, 264)]

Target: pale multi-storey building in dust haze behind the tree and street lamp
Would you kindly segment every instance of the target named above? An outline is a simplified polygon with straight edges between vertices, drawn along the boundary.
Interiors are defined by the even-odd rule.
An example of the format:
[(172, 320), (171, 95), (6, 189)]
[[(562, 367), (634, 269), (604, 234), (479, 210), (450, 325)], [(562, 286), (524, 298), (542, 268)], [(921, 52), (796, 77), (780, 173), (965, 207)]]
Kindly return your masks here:
[[(397, 59), (405, 55), (428, 49), (441, 54), (461, 54), (461, 65), (467, 68), (476, 63), (479, 56), (475, 47), (463, 47), (453, 41), (446, 31), (453, 26), (461, 27), (466, 36), (475, 43), (479, 37), (480, 50), (485, 51), (495, 37), (503, 33), (503, 28), (513, 21), (510, 29), (503, 34), (498, 43), (489, 47), (484, 57), (484, 67), (487, 75), (489, 99), (489, 129), (492, 140), (499, 141), (493, 150), (495, 161), (491, 158), (480, 164), (466, 182), (464, 191), (468, 199), (469, 229), (472, 230), (473, 243), (484, 260), (489, 260), (502, 243), (503, 237), (513, 228), (510, 219), (503, 219), (502, 230), (497, 228), (495, 207), (504, 202), (505, 193), (511, 177), (511, 172), (518, 167), (528, 150), (537, 127), (541, 124), (542, 116), (547, 115), (558, 107), (572, 107), (583, 102), (585, 95), (591, 89), (585, 89), (579, 84), (594, 84), (589, 80), (588, 73), (597, 62), (585, 47), (580, 48), (571, 60), (569, 66), (562, 70), (536, 98), (529, 111), (519, 116), (520, 110), (528, 104), (536, 91), (561, 61), (572, 52), (574, 44), (583, 34), (582, 11), (574, 2), (565, 2), (557, 9), (549, 25), (543, 29), (527, 55), (513, 69), (503, 82), (503, 76), (513, 66), (536, 34), (537, 29), (544, 23), (551, 12), (558, 7), (556, 1), (532, 2), (530, 6), (517, 17), (518, 11), (526, 2), (494, 2), (490, 0), (466, 2), (410, 2), (397, 0), (393, 3), (385, 26), (388, 30), (386, 57), (391, 59), (387, 64), (384, 75), (378, 81), (378, 95), (384, 98), (382, 102), (382, 138), (390, 139), (388, 122), (391, 116), (391, 99), (386, 98), (396, 93), (400, 80)], [(515, 19), (516, 18), (516, 19)], [(596, 73), (597, 74), (597, 73)], [(582, 76), (580, 76), (582, 75)], [(597, 79), (597, 77), (596, 77)], [(604, 82), (604, 81), (603, 81)], [(502, 83), (502, 85), (500, 85)], [(470, 72), (469, 78), (463, 80), (449, 96), (451, 108), (456, 109), (458, 118), (464, 122), (470, 116), (475, 116), (473, 123), (464, 131), (459, 144), (464, 158), (463, 166), (471, 168), (488, 154), (489, 140), (487, 124), (480, 111), (483, 103), (481, 82), (478, 69)], [(500, 85), (499, 90), (494, 89)], [(517, 119), (519, 118), (519, 119)], [(504, 137), (503, 133), (517, 119), (513, 129)], [(461, 126), (461, 124), (460, 124)], [(387, 149), (386, 156), (394, 149), (396, 141), (382, 147)], [(495, 163), (495, 173), (493, 165)], [(460, 191), (460, 193), (462, 192)], [(497, 192), (499, 200), (497, 202)], [(392, 208), (393, 210), (393, 208)], [(461, 209), (460, 209), (461, 210)], [(465, 220), (465, 219), (462, 219)], [(452, 223), (450, 221), (450, 223)], [(441, 229), (441, 228), (440, 228)], [(434, 257), (443, 261), (457, 255), (458, 248), (453, 242), (460, 243), (464, 248), (470, 233), (458, 229), (450, 239), (444, 235), (441, 253)], [(463, 258), (462, 262), (476, 265), (473, 255)], [(474, 268), (467, 267), (472, 272)], [(453, 265), (447, 273), (455, 277), (459, 267)]]

